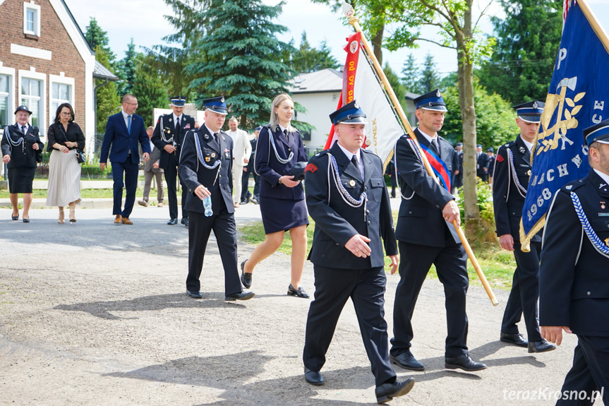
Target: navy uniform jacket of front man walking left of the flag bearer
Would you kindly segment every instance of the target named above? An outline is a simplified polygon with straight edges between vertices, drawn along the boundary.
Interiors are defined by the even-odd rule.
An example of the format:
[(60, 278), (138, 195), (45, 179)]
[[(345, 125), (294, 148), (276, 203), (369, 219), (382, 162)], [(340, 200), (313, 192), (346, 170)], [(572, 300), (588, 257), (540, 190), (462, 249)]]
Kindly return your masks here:
[[(382, 176), (382, 162), (378, 155), (361, 151), (365, 177), (363, 183), (358, 169), (336, 143), (330, 150), (311, 157), (308, 162), (305, 172), (306, 203), (310, 216), (315, 220), (313, 246), (308, 259), (315, 265), (341, 269), (384, 266), (382, 241), (385, 242), (387, 255), (397, 254), (389, 193)], [(366, 220), (363, 206), (353, 208), (345, 203), (332, 174), (328, 178), (329, 153), (336, 158), (342, 185), (349, 194), (358, 200), (361, 192), (366, 192)], [(344, 247), (355, 234), (370, 239), (370, 257), (358, 258)]]

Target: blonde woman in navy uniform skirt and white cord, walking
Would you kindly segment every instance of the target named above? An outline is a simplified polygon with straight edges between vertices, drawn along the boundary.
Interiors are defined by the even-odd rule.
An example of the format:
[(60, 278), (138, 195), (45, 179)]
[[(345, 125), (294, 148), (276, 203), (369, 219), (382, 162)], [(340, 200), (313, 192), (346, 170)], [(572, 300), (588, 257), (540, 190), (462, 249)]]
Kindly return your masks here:
[(258, 135), (255, 168), (260, 174), (260, 213), (266, 238), (258, 244), (250, 258), (241, 263), (241, 282), (251, 287), (256, 265), (279, 249), (284, 232), (289, 230), (292, 241), (291, 283), (287, 294), (307, 299), (301, 287), (301, 276), (306, 256), (306, 227), (308, 214), (301, 181), (294, 180), (290, 169), (296, 162), (306, 162), (302, 137), (291, 126), (294, 101), (282, 93), (271, 107), (270, 124)]

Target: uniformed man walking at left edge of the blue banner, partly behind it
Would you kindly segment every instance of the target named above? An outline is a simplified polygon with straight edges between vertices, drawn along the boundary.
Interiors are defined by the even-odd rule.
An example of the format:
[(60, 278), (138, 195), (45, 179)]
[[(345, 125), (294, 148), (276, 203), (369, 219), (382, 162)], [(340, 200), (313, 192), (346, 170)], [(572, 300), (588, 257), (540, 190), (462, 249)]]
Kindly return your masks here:
[[(512, 291), (509, 292), (501, 323), (500, 340), (528, 347), (529, 352), (555, 349), (554, 345), (541, 338), (537, 322), (541, 231), (531, 239), (531, 251), (521, 251), (520, 244), (522, 206), (531, 175), (531, 148), (539, 129), (543, 105), (543, 102), (533, 101), (513, 107), (516, 109), (516, 124), (520, 135), (499, 148), (493, 172), (493, 206), (499, 243), (502, 249), (513, 251), (516, 259)], [(517, 326), (523, 314), (528, 341), (519, 333)]]

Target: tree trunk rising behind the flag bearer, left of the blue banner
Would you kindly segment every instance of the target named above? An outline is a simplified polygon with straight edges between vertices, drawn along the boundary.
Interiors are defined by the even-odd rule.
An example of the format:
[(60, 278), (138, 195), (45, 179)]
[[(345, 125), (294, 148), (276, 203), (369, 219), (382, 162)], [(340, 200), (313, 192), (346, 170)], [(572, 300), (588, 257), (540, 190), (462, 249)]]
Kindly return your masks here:
[[(463, 32), (457, 32), (457, 68), (459, 85), (459, 107), (463, 122), (463, 198), (465, 208), (464, 222), (478, 222), (478, 193), (476, 191), (476, 109), (474, 106), (474, 65), (467, 55), (466, 44), (472, 37), (471, 0), (465, 12)], [(461, 34), (461, 35), (459, 35)], [(467, 228), (467, 227), (466, 227)]]

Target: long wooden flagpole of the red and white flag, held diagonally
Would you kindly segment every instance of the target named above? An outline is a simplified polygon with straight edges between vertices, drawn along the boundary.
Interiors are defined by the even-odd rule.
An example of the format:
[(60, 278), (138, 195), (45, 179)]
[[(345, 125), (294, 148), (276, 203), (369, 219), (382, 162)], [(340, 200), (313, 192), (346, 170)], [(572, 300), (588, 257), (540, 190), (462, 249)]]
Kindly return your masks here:
[[(346, 9), (347, 7), (349, 9)], [(366, 35), (364, 35), (364, 33), (361, 30), (361, 27), (359, 25), (359, 18), (357, 18), (355, 16), (354, 10), (353, 10), (353, 8), (351, 8), (351, 6), (349, 4), (344, 3), (343, 10), (344, 10), (347, 18), (349, 18), (349, 24), (353, 25), (356, 32), (361, 32), (361, 43), (363, 44), (364, 49), (366, 49), (366, 53), (368, 54), (368, 57), (372, 61), (373, 67), (374, 67), (376, 73), (378, 74), (378, 77), (382, 81), (382, 84), (385, 86), (385, 91), (387, 92), (387, 95), (389, 95), (390, 100), (393, 103), (397, 114), (399, 115), (399, 119), (402, 120), (402, 124), (404, 124), (404, 127), (406, 128), (406, 131), (408, 132), (408, 135), (410, 136), (412, 141), (414, 141), (416, 148), (418, 149), (419, 155), (421, 155), (421, 157), (423, 158), (423, 165), (425, 165), (425, 169), (427, 169), (427, 172), (430, 175), (430, 177), (435, 179), (436, 182), (440, 183), (438, 181), (438, 178), (435, 177), (435, 174), (433, 173), (433, 169), (431, 168), (431, 165), (430, 165), (429, 161), (427, 160), (426, 155), (423, 153), (423, 150), (421, 150), (421, 145), (419, 145), (418, 140), (416, 139), (416, 136), (414, 135), (414, 132), (412, 131), (412, 127), (410, 126), (408, 119), (406, 119), (406, 114), (404, 114), (402, 105), (399, 104), (399, 100), (397, 100), (397, 97), (396, 97), (395, 93), (393, 92), (393, 89), (389, 83), (389, 80), (387, 80), (387, 76), (385, 76), (385, 72), (382, 71), (380, 64), (378, 63), (376, 57), (374, 56), (374, 52), (373, 52), (372, 48), (370, 47), (368, 40), (366, 40)], [(457, 220), (454, 220), (454, 222), (452, 222), (452, 225), (454, 226), (454, 229), (457, 230), (457, 234), (459, 235), (459, 239), (461, 239), (461, 242), (464, 246), (467, 256), (469, 257), (469, 261), (471, 261), (471, 265), (474, 265), (474, 269), (476, 270), (476, 273), (478, 274), (478, 278), (480, 279), (480, 282), (482, 282), (482, 286), (484, 287), (484, 290), (486, 290), (486, 294), (488, 294), (490, 302), (493, 304), (493, 306), (497, 306), (499, 304), (499, 302), (497, 301), (497, 298), (495, 297), (495, 294), (493, 293), (493, 289), (491, 289), (490, 285), (488, 285), (486, 276), (484, 275), (482, 268), (480, 267), (480, 264), (478, 263), (478, 260), (476, 259), (476, 256), (474, 255), (474, 251), (471, 250), (471, 246), (469, 246), (469, 242), (467, 241), (467, 238), (465, 237), (463, 230), (461, 229), (461, 227), (459, 227), (459, 224), (457, 224)]]

